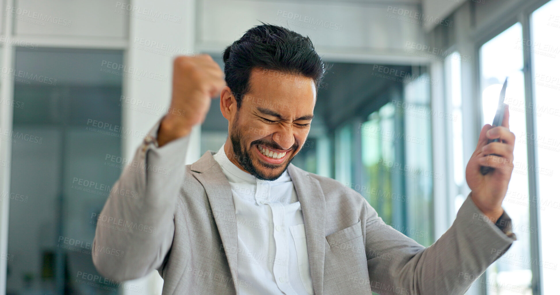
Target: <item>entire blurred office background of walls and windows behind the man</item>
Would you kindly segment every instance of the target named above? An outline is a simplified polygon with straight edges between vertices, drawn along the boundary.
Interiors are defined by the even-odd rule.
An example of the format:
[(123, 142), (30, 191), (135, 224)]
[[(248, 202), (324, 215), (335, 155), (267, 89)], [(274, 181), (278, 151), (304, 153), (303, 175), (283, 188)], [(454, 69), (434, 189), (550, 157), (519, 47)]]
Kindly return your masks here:
[[(469, 194), (465, 165), (508, 77), (517, 241), (468, 294), (557, 294), (560, 0), (5, 0), (0, 15), (0, 295), (159, 294), (105, 280), (95, 214), (170, 101), (171, 60), (259, 21), (330, 65), (296, 166), (360, 192), (431, 245)], [(225, 142), (214, 101), (188, 163)], [(476, 246), (476, 245), (474, 245)], [(437, 278), (433, 278), (437, 279)]]

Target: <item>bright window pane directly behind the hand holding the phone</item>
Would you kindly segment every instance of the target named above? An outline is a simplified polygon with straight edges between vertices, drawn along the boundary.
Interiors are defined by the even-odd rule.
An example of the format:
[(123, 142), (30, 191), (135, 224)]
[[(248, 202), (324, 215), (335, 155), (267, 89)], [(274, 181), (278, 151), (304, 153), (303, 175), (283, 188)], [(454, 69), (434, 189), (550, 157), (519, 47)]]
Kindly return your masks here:
[[(525, 96), (523, 53), (517, 44), (522, 40), (521, 24), (517, 23), (480, 48), (480, 90), (482, 92), (483, 124), (492, 124), (503, 81), (508, 77), (505, 103), (510, 105), (510, 130), (519, 139), (525, 133)], [(503, 208), (512, 217), (517, 241), (487, 270), (488, 294), (531, 294), (529, 183), (527, 146), (517, 141), (514, 171)], [(513, 287), (512, 287), (513, 286)]]

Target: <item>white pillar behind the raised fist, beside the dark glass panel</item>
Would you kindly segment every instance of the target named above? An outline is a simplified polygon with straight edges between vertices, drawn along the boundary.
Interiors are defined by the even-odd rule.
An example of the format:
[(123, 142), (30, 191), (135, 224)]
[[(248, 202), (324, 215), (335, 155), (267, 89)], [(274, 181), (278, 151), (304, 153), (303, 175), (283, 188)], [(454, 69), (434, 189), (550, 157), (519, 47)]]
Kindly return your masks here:
[[(169, 106), (171, 100), (172, 60), (178, 54), (194, 53), (194, 0), (132, 0), (133, 6), (142, 10), (162, 12), (161, 17), (145, 20), (130, 17), (129, 43), (125, 66), (154, 73), (157, 78), (124, 78), (123, 95), (146, 101), (158, 106)], [(157, 15), (157, 14), (156, 14)], [(167, 15), (167, 16), (166, 16)], [(175, 49), (172, 49), (175, 48)], [(171, 49), (171, 50), (170, 50)], [(165, 80), (165, 81), (164, 81)], [(123, 127), (139, 132), (148, 132), (163, 114), (148, 114), (123, 108)], [(125, 129), (126, 130), (126, 129)], [(143, 138), (130, 137), (123, 141), (123, 155), (133, 156)], [(199, 128), (191, 135), (186, 161), (192, 163), (200, 155)], [(148, 294), (161, 294), (163, 280), (157, 271), (146, 278), (130, 282), (142, 286)], [(123, 294), (136, 294), (123, 290)]]

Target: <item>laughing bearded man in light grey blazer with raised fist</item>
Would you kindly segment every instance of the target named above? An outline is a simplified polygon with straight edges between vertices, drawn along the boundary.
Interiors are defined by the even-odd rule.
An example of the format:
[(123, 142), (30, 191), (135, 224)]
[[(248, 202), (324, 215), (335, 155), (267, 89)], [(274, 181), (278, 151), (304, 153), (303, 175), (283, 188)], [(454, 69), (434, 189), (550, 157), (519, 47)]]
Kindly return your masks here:
[[(507, 112), (504, 126), (480, 132), (466, 170), (472, 193), (425, 248), (356, 191), (290, 164), (324, 74), (309, 38), (259, 25), (223, 61), (225, 80), (208, 55), (175, 59), (180, 111), (152, 128), (134, 156), (146, 168), (123, 171), (98, 219), (94, 247), (124, 252), (93, 256), (102, 275), (158, 269), (164, 294), (462, 294), (515, 240), (501, 207), (515, 142)], [(227, 141), (185, 167), (189, 134), (218, 94)], [(494, 169), (483, 176), (481, 166)]]

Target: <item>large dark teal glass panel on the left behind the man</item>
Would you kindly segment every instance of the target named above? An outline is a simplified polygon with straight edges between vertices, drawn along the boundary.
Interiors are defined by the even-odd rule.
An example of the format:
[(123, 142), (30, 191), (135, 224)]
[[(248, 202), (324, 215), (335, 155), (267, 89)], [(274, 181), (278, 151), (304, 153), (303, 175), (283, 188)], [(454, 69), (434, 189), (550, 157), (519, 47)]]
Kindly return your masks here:
[[(18, 48), (7, 294), (117, 294), (91, 259), (97, 216), (122, 172), (122, 51)], [(34, 79), (33, 77), (44, 77)], [(103, 282), (83, 279), (94, 275)], [(78, 278), (79, 276), (79, 278)], [(2, 286), (3, 287), (3, 286)]]

